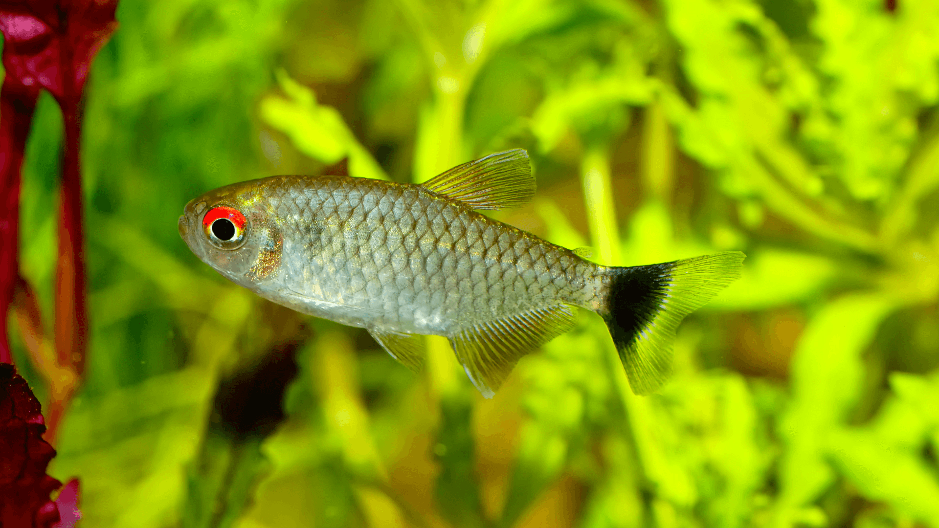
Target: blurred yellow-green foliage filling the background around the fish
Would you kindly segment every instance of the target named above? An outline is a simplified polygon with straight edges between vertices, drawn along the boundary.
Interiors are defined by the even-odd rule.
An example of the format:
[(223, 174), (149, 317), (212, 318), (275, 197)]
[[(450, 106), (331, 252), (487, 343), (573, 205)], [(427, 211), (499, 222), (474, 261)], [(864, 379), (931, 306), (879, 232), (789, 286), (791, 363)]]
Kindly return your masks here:
[[(81, 478), (87, 527), (939, 527), (939, 4), (887, 4), (121, 3), (87, 89), (91, 347), (52, 474)], [(43, 96), (22, 254), (48, 315), (61, 135)], [(485, 400), (445, 342), (415, 376), (177, 235), (225, 183), (346, 157), (422, 181), (516, 147), (538, 197), (500, 220), (610, 264), (747, 252), (660, 394), (630, 393), (584, 313)], [(220, 382), (290, 336), (285, 422), (226, 434)]]

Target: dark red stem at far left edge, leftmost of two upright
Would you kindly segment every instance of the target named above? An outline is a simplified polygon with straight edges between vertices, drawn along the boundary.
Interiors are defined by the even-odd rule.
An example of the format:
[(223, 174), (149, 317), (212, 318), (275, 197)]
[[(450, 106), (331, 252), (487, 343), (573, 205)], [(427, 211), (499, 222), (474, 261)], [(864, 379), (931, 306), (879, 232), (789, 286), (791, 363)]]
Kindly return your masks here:
[(11, 82), (0, 89), (0, 363), (13, 363), (7, 311), (20, 273), (20, 185), (23, 150), (36, 109), (38, 89)]

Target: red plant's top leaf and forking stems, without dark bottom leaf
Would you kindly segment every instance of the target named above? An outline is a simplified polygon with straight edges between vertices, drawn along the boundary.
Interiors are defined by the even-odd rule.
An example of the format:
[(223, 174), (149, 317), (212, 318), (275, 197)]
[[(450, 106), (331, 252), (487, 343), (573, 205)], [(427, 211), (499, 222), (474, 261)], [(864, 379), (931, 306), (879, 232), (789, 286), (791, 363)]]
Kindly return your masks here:
[[(81, 102), (91, 61), (114, 32), (116, 0), (0, 1), (0, 31), (7, 69), (0, 90), (0, 362), (12, 363), (6, 314), (17, 314), (39, 370), (52, 387), (47, 436), (54, 432), (85, 370), (87, 311), (85, 235), (82, 218)], [(38, 90), (46, 89), (62, 109), (65, 152), (59, 203), (58, 265), (55, 272), (55, 359), (46, 357), (45, 333), (32, 288), (17, 261), (20, 173)], [(18, 290), (20, 295), (18, 295)]]

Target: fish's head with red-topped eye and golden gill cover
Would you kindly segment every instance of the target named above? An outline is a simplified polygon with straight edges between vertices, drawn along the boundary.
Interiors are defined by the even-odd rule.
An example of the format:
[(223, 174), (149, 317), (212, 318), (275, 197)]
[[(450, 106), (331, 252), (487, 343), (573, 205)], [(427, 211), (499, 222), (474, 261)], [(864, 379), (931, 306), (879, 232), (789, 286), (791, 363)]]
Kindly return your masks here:
[(277, 274), (283, 239), (257, 180), (198, 196), (179, 217), (179, 236), (195, 256), (245, 287)]

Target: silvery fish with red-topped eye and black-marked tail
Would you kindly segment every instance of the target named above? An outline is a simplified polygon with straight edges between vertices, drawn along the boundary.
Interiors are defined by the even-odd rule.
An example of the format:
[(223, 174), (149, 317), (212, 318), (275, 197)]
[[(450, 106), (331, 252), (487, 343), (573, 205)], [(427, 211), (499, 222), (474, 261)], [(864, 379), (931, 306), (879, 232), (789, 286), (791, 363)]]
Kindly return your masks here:
[(492, 397), (518, 360), (599, 314), (630, 387), (668, 380), (686, 315), (738, 278), (731, 251), (616, 267), (479, 210), (519, 207), (535, 180), (524, 149), (458, 165), (422, 184), (348, 176), (272, 176), (190, 201), (179, 234), (203, 262), (303, 314), (361, 327), (420, 371), (423, 335), (449, 339), (469, 380)]

